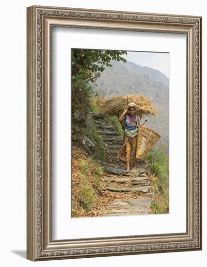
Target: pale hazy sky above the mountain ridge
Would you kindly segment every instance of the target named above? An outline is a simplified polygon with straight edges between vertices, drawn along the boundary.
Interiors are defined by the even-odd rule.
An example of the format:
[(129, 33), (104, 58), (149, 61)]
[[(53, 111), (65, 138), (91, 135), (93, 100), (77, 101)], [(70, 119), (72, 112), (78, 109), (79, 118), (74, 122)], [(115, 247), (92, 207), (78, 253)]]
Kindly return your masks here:
[(169, 78), (169, 53), (128, 51), (124, 57), (137, 65), (158, 69)]

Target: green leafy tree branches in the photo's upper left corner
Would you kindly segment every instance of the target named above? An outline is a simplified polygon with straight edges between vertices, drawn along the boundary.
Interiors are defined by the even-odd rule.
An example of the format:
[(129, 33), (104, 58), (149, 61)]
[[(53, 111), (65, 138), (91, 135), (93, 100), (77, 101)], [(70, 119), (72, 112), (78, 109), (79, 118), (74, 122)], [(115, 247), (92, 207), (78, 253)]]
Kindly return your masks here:
[(127, 60), (121, 56), (123, 54), (127, 55), (127, 51), (72, 49), (72, 77), (94, 83), (105, 67), (112, 67), (111, 60), (126, 63)]

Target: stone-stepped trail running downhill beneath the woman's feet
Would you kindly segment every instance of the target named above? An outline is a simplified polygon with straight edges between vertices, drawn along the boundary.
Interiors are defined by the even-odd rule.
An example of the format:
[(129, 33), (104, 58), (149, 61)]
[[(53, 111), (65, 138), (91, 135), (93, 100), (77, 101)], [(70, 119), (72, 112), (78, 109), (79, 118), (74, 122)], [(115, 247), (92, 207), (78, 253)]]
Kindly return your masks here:
[[(104, 120), (102, 113), (92, 113), (92, 117), (106, 152), (106, 162), (101, 163), (104, 171), (102, 190), (116, 195), (116, 200), (106, 205), (100, 216), (150, 214), (154, 193), (149, 179), (150, 170), (145, 161), (139, 160), (127, 173), (125, 163), (117, 157), (123, 143), (120, 133)], [(121, 198), (123, 194), (126, 195), (124, 200)]]

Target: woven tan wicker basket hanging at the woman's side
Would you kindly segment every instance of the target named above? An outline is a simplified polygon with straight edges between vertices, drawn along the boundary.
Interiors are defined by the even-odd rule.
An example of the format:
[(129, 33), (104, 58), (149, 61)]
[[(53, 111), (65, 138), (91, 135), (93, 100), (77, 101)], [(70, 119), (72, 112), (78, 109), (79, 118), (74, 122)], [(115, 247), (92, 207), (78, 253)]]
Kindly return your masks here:
[(153, 146), (158, 142), (160, 135), (155, 131), (146, 128), (144, 126), (139, 126), (138, 134), (138, 144), (136, 151), (137, 159), (144, 159), (146, 154), (153, 148)]

